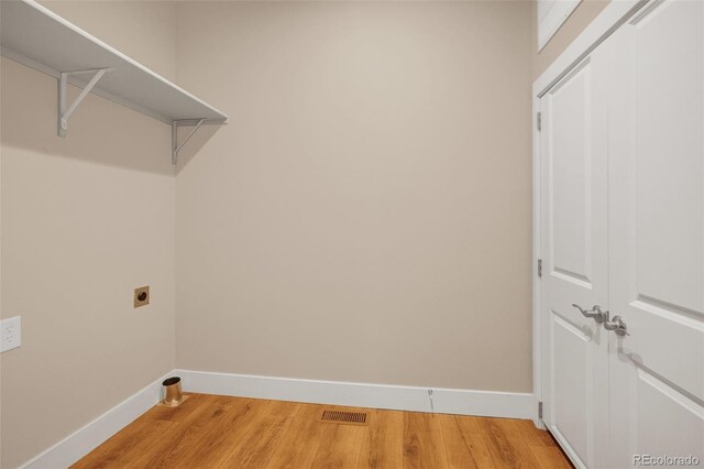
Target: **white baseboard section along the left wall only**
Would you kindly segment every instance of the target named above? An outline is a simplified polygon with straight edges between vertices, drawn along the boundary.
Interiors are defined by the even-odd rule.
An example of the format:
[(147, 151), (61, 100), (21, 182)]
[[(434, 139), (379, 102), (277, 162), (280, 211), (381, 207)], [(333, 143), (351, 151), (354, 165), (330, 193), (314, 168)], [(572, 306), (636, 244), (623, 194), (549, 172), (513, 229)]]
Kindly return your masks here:
[(162, 381), (170, 375), (173, 373), (165, 374), (154, 381), (88, 425), (20, 466), (20, 468), (54, 469), (69, 467), (160, 402), (162, 399)]

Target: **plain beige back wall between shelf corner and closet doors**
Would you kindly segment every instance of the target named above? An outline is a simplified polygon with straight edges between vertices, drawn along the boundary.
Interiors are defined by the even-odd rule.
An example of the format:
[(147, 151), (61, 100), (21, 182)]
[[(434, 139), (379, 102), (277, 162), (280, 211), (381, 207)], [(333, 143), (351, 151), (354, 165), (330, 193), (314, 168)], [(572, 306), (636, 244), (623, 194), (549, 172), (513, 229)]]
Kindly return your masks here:
[(531, 14), (179, 3), (177, 366), (529, 392)]

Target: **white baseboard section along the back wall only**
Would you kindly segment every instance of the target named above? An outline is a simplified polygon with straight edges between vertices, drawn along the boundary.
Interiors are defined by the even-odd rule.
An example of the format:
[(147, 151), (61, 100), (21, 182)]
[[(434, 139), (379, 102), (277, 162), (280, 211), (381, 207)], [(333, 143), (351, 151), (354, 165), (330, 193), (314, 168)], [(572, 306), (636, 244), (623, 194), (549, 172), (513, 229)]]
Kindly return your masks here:
[(184, 391), (242, 397), (538, 421), (530, 393), (432, 389), (175, 370)]

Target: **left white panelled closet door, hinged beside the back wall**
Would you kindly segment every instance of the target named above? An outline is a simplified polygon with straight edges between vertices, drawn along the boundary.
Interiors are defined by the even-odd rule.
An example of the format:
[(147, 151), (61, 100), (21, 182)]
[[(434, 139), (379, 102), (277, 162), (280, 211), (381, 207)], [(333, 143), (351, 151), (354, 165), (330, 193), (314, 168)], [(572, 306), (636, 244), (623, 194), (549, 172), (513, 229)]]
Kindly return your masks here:
[(595, 51), (541, 98), (543, 422), (578, 466), (606, 443), (606, 57)]

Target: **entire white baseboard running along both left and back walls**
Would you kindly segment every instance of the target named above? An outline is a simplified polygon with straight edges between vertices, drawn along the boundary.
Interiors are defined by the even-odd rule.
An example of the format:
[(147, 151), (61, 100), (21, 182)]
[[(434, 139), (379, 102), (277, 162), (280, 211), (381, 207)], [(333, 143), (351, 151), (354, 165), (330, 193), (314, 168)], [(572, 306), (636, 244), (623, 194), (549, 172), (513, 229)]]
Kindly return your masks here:
[(66, 468), (78, 461), (156, 405), (162, 399), (162, 381), (167, 377), (180, 377), (184, 391), (194, 393), (538, 421), (536, 400), (528, 393), (433, 388), (431, 406), (428, 388), (174, 370), (25, 462), (21, 469)]

